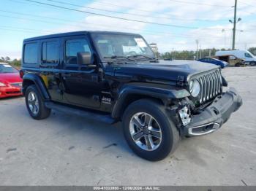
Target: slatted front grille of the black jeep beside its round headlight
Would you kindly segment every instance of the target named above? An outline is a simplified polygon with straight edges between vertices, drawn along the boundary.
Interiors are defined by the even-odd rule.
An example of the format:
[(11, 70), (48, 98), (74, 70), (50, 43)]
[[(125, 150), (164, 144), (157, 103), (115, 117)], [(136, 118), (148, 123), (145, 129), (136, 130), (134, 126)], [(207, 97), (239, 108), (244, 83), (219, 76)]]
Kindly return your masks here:
[(222, 92), (222, 75), (219, 69), (211, 71), (197, 78), (200, 82), (200, 104), (215, 98)]

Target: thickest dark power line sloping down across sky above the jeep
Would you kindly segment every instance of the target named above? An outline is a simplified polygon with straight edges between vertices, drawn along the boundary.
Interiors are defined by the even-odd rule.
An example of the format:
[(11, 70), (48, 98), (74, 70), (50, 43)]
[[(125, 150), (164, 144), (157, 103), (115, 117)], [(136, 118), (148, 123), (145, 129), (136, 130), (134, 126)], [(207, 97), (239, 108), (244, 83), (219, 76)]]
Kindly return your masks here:
[(98, 15), (98, 16), (102, 16), (102, 17), (111, 17), (111, 18), (115, 18), (115, 19), (119, 19), (119, 20), (129, 20), (129, 21), (133, 21), (133, 22), (137, 22), (137, 23), (147, 23), (147, 24), (153, 24), (153, 25), (158, 25), (158, 26), (169, 26), (169, 27), (174, 27), (174, 28), (195, 28), (195, 27), (189, 27), (189, 26), (177, 26), (177, 25), (171, 25), (171, 24), (165, 24), (165, 23), (154, 23), (154, 22), (149, 22), (149, 21), (143, 21), (143, 20), (135, 20), (135, 19), (128, 19), (128, 18), (124, 18), (124, 17), (116, 17), (116, 16), (111, 16), (111, 15), (104, 15), (104, 14), (99, 14), (96, 12), (87, 12), (87, 11), (83, 11), (83, 10), (79, 10), (79, 9), (72, 9), (69, 7), (62, 7), (59, 5), (55, 5), (55, 4), (47, 4), (47, 3), (42, 3), (39, 1), (33, 1), (33, 0), (24, 0), (24, 1), (30, 1), (30, 2), (34, 2), (37, 4), (44, 4), (44, 5), (48, 5), (50, 7), (57, 7), (60, 9), (67, 9), (67, 10), (71, 10), (71, 11), (75, 11), (75, 12), (83, 12), (83, 13), (87, 13), (90, 15)]

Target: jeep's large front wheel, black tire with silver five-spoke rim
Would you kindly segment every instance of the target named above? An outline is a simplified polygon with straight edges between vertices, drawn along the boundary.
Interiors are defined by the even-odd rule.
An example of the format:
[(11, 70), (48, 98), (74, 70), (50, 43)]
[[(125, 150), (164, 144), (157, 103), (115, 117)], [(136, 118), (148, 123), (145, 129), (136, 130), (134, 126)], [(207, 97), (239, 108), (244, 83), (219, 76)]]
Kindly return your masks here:
[[(144, 122), (146, 121), (146, 116), (148, 117), (148, 119), (150, 116), (153, 117), (153, 119), (151, 120), (153, 121), (151, 126), (154, 126), (154, 130), (149, 127), (148, 130), (151, 133), (158, 132), (157, 136), (161, 137), (161, 141), (159, 141), (160, 139), (157, 139), (157, 137), (153, 138), (151, 134), (147, 134), (148, 132), (144, 132), (145, 127), (139, 128), (136, 132), (133, 132), (135, 128), (138, 128), (138, 126), (133, 123), (134, 117), (140, 118), (140, 122), (143, 122), (143, 114), (140, 116), (140, 113), (145, 114)], [(159, 128), (157, 127), (158, 125)], [(180, 139), (178, 130), (174, 123), (170, 120), (170, 117), (167, 116), (164, 106), (157, 103), (157, 101), (141, 99), (130, 104), (124, 112), (122, 126), (124, 137), (127, 140), (127, 144), (129, 145), (129, 147), (132, 149), (133, 152), (135, 152), (135, 154), (146, 160), (162, 160), (170, 153), (173, 153), (178, 146), (178, 141)], [(142, 132), (141, 129), (143, 129)], [(159, 131), (161, 131), (161, 136), (159, 136)], [(135, 135), (138, 135), (139, 132), (140, 136), (144, 135), (138, 141), (138, 144), (140, 146), (136, 144), (136, 142), (134, 141), (135, 139), (133, 138), (135, 137)], [(148, 139), (147, 135), (151, 137), (151, 141), (149, 142), (152, 142), (153, 140), (154, 147), (148, 147), (148, 145), (146, 144), (146, 139)]]

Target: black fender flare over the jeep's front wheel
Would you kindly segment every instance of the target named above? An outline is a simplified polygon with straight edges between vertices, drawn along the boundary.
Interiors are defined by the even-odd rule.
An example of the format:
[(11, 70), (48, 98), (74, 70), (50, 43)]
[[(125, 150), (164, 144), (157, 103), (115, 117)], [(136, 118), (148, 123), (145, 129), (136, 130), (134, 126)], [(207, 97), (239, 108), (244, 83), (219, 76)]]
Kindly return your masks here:
[(118, 92), (118, 98), (113, 106), (113, 111), (111, 116), (113, 118), (121, 117), (122, 112), (124, 112), (124, 106), (126, 105), (127, 98), (131, 95), (142, 95), (145, 98), (157, 98), (163, 103), (169, 103), (172, 99), (185, 98), (190, 96), (190, 93), (181, 87), (176, 87), (172, 85), (162, 85), (157, 87), (156, 85), (145, 84), (135, 84), (124, 85)]

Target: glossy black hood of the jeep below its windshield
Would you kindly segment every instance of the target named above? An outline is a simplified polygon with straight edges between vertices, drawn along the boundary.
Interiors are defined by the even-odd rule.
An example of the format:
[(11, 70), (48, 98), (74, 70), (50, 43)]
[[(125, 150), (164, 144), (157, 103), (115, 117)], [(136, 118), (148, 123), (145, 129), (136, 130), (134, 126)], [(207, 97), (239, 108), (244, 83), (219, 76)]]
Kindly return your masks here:
[(184, 81), (195, 74), (218, 69), (211, 63), (199, 61), (159, 61), (159, 63), (137, 62), (136, 64), (118, 64), (107, 66), (106, 70), (112, 77), (127, 80), (147, 79), (177, 81), (183, 76)]

